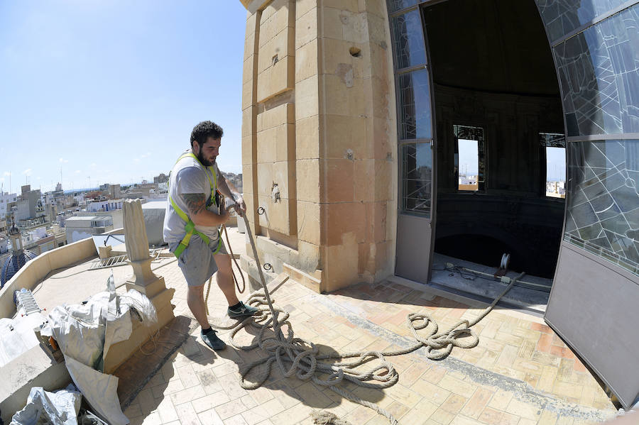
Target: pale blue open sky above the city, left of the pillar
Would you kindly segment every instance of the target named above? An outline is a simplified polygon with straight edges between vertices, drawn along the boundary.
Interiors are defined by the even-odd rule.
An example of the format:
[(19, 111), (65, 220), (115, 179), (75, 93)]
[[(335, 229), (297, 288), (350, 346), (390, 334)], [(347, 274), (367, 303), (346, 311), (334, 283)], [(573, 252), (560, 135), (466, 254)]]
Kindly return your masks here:
[(200, 121), (241, 172), (239, 0), (0, 1), (0, 182), (13, 192), (140, 182)]

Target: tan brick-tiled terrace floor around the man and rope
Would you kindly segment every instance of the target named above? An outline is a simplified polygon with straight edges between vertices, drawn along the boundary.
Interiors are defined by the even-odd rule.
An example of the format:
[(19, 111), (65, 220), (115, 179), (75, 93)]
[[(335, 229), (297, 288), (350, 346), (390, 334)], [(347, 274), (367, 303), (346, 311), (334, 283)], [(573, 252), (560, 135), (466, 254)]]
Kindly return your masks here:
[[(190, 316), (177, 264), (156, 273), (176, 289), (175, 314)], [(431, 314), (441, 331), (486, 307), (400, 279), (328, 295), (289, 280), (272, 295), (277, 306), (290, 312), (295, 336), (315, 343), (320, 353), (405, 348), (414, 343), (405, 324), (408, 313)], [(215, 287), (209, 311), (212, 323), (229, 322)], [(542, 319), (495, 309), (474, 329), (479, 345), (454, 348), (444, 360), (427, 359), (423, 348), (388, 358), (400, 375), (393, 387), (344, 387), (387, 409), (402, 425), (577, 425), (614, 416), (601, 387)], [(132, 424), (312, 424), (309, 414), (315, 409), (327, 409), (353, 425), (388, 423), (371, 409), (313, 382), (283, 377), (276, 368), (262, 387), (244, 390), (238, 370), (263, 355), (261, 350), (229, 346), (214, 353), (202, 345), (199, 332), (192, 333), (126, 409)], [(221, 336), (228, 342), (228, 331)], [(236, 341), (253, 338), (242, 331)]]

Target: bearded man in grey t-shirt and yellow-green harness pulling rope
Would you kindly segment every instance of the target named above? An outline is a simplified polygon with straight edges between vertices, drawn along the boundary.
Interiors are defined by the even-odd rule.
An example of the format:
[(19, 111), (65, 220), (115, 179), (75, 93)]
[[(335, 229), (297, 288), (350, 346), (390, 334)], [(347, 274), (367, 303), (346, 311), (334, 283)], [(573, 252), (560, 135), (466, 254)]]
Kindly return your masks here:
[[(213, 350), (226, 347), (209, 325), (204, 305), (204, 283), (216, 275), (217, 285), (229, 303), (231, 318), (244, 318), (256, 313), (236, 295), (231, 277), (231, 258), (218, 226), (226, 223), (229, 214), (219, 205), (217, 191), (230, 199), (237, 189), (227, 182), (216, 163), (224, 131), (216, 123), (203, 121), (191, 133), (191, 148), (175, 162), (170, 172), (168, 203), (164, 217), (164, 241), (178, 258), (178, 265), (187, 281), (187, 304), (202, 326), (202, 341)], [(246, 204), (239, 194), (235, 211), (241, 216)]]

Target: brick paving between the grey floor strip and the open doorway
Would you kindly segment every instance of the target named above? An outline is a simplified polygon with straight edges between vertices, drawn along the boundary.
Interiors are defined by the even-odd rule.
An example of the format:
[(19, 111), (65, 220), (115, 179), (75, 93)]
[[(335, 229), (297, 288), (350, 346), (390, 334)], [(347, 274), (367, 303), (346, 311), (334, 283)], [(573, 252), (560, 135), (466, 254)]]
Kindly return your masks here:
[[(386, 326), (384, 318), (393, 314), (388, 321), (395, 332), (405, 336), (410, 335), (404, 323), (410, 311), (431, 314), (442, 329), (460, 317), (472, 319), (486, 307), (481, 302), (459, 301), (461, 297), (437, 293), (432, 289), (413, 289), (411, 292), (406, 285), (395, 282), (374, 287), (358, 285), (328, 297), (336, 298), (339, 304), (364, 311), (366, 319), (381, 326)], [(389, 298), (398, 299), (398, 302), (386, 303), (383, 312), (379, 311), (378, 304)], [(552, 394), (565, 402), (596, 409), (611, 407), (608, 397), (586, 367), (541, 318), (496, 309), (474, 328), (479, 334), (479, 345), (467, 350), (454, 350), (453, 357), (526, 382), (533, 389)]]

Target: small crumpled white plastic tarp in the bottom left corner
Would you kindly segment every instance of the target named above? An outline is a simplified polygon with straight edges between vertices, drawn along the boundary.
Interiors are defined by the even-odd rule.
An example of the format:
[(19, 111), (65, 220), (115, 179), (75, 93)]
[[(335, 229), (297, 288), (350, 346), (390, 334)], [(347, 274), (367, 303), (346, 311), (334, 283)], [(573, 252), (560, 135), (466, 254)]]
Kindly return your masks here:
[(27, 404), (13, 415), (9, 425), (77, 425), (82, 394), (72, 390), (48, 392), (43, 387), (33, 387)]

